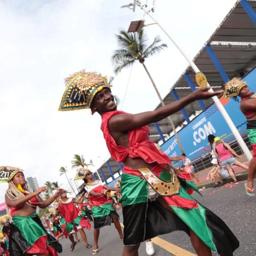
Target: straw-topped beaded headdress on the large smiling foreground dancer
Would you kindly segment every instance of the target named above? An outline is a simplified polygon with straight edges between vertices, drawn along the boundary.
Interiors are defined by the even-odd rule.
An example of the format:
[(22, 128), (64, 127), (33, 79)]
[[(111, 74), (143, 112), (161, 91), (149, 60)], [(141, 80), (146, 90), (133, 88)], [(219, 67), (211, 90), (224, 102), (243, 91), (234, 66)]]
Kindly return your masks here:
[[(79, 72), (65, 79), (66, 89), (60, 102), (60, 111), (90, 108), (93, 98), (103, 88), (110, 88), (107, 77), (95, 72)], [(92, 114), (96, 110), (92, 109)]]

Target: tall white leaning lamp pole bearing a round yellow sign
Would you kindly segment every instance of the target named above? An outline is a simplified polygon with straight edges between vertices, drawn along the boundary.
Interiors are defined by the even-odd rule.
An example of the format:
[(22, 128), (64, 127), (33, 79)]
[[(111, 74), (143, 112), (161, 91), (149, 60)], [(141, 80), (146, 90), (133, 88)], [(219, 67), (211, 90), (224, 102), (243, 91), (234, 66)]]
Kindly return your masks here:
[[(191, 68), (194, 70), (194, 72), (200, 72), (199, 68), (197, 68), (196, 64), (188, 57), (187, 53), (180, 47), (180, 45), (164, 30), (164, 28), (158, 23), (158, 21), (150, 14), (150, 11), (148, 11), (144, 6), (141, 5), (140, 2), (136, 1), (136, 5), (140, 6), (140, 8), (143, 9), (143, 11), (146, 12), (146, 14), (149, 15), (149, 17), (152, 18), (152, 20), (155, 21), (155, 23), (158, 24), (158, 26), (163, 30), (163, 32), (172, 40), (173, 44), (176, 45), (176, 47), (179, 49), (179, 51), (182, 53), (182, 55), (187, 59), (188, 63), (190, 64)], [(207, 86), (210, 86), (207, 82)], [(212, 88), (208, 90), (208, 92), (213, 92)], [(231, 120), (230, 116), (227, 114), (226, 109), (221, 104), (220, 100), (217, 96), (212, 97), (213, 101), (215, 102), (216, 106), (220, 110), (220, 113), (222, 114), (224, 120), (227, 122), (227, 125), (229, 126), (230, 130), (234, 134), (238, 144), (241, 146), (242, 151), (244, 151), (245, 156), (247, 157), (248, 161), (251, 160), (252, 155), (250, 150), (247, 148), (244, 140), (242, 139), (241, 135), (239, 134), (238, 130), (236, 129), (236, 126), (234, 125), (233, 121)]]

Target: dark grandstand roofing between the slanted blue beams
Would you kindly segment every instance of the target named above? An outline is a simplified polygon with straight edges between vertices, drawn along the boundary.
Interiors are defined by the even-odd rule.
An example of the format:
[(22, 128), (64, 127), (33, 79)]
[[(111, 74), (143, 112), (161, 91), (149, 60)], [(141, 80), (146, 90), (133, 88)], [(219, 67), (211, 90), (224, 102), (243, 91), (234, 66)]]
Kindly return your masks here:
[[(240, 1), (236, 2), (209, 40), (205, 43), (205, 46), (209, 45), (214, 51), (214, 54), (217, 56), (229, 78), (235, 76), (239, 77), (242, 74), (246, 74), (253, 69), (256, 63), (256, 26), (239, 2)], [(248, 2), (255, 12), (256, 0), (248, 0)], [(200, 71), (206, 75), (209, 84), (213, 88), (220, 89), (220, 87), (223, 86), (223, 78), (209, 57), (205, 47), (199, 51), (196, 57), (194, 57), (193, 61)], [(190, 66), (188, 66), (176, 83), (170, 88), (170, 90), (176, 90), (179, 98), (187, 96), (189, 93), (191, 93), (191, 89), (183, 76), (185, 73), (190, 76), (194, 85), (196, 85), (194, 71)], [(175, 99), (171, 92), (168, 93), (164, 98), (165, 104), (169, 104), (170, 102), (174, 101)], [(212, 99), (203, 100), (206, 107), (211, 105), (212, 102)], [(155, 109), (159, 107), (161, 107), (161, 104), (159, 104)], [(196, 111), (200, 111), (202, 109), (198, 102), (193, 102), (185, 107), (185, 110), (188, 116), (191, 116), (192, 114), (195, 114)], [(185, 120), (181, 111), (173, 114), (171, 117), (175, 127), (181, 125)], [(164, 135), (172, 132), (172, 127), (170, 126), (167, 118), (158, 122), (158, 125), (160, 126), (160, 130)], [(149, 130), (151, 140), (154, 142), (161, 140), (154, 124), (149, 125)], [(108, 160), (108, 163), (110, 164), (113, 173), (120, 170), (119, 165), (112, 158)], [(107, 164), (103, 164), (101, 168), (105, 177), (109, 178), (111, 175)]]

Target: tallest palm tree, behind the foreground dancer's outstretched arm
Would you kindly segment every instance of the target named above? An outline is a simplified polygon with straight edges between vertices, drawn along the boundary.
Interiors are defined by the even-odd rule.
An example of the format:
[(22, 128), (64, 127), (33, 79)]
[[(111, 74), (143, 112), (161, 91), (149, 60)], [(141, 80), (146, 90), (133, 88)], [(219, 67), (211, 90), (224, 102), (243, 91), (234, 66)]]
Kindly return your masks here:
[[(160, 102), (162, 106), (164, 106), (164, 101), (158, 92), (157, 86), (155, 85), (148, 69), (145, 66), (145, 59), (159, 53), (161, 50), (167, 47), (166, 44), (160, 44), (161, 40), (157, 36), (154, 39), (154, 42), (147, 46), (146, 42), (148, 41), (148, 38), (146, 37), (146, 34), (143, 30), (140, 31), (140, 33), (137, 32), (131, 32), (128, 33), (125, 30), (120, 30), (119, 35), (116, 35), (117, 43), (119, 45), (119, 49), (114, 51), (114, 54), (112, 56), (112, 61), (114, 62), (115, 69), (114, 72), (117, 74), (119, 73), (123, 68), (128, 68), (129, 66), (132, 66), (137, 60), (143, 65), (143, 68), (147, 72), (149, 79), (151, 80), (151, 83), (153, 84), (153, 87), (157, 93), (158, 98), (160, 99)], [(175, 137), (177, 139), (177, 142), (179, 144), (179, 147), (181, 149), (181, 152), (184, 153), (183, 146), (181, 145), (181, 141), (179, 139), (179, 136), (176, 132), (175, 125), (173, 123), (173, 120), (170, 116), (167, 117), (170, 125), (172, 126), (172, 130), (175, 134)]]

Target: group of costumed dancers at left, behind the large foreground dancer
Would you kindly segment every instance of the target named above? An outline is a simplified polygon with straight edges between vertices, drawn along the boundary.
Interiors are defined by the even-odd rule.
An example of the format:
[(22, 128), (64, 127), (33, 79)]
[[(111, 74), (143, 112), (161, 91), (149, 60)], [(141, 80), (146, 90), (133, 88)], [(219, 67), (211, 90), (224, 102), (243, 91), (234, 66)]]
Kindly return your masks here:
[[(23, 170), (10, 167), (0, 167), (0, 181), (8, 182), (9, 188), (5, 194), (9, 220), (2, 223), (3, 234), (8, 239), (9, 250), (7, 255), (50, 255), (56, 256), (62, 252), (59, 238), (65, 236), (71, 241), (70, 251), (73, 251), (78, 239), (77, 233), (87, 249), (90, 245), (87, 241), (84, 228), (90, 230), (92, 221), (94, 224), (94, 248), (93, 253), (98, 253), (99, 229), (110, 226), (114, 223), (120, 239), (123, 239), (122, 229), (119, 223), (113, 202), (109, 202), (107, 193), (110, 191), (120, 192), (120, 188), (112, 188), (103, 185), (101, 181), (93, 181), (92, 172), (87, 169), (78, 169), (75, 180), (84, 180), (84, 189), (77, 197), (68, 197), (67, 191), (59, 188), (54, 196), (43, 201), (39, 196), (46, 191), (46, 187), (41, 187), (33, 191), (27, 187)], [(86, 203), (84, 203), (86, 199)], [(54, 209), (49, 218), (51, 219), (51, 231), (49, 226), (43, 226), (36, 214), (37, 206), (45, 208), (54, 201), (58, 201), (57, 210)], [(77, 207), (78, 206), (78, 207)], [(90, 212), (92, 211), (92, 214)], [(93, 215), (93, 218), (92, 216)], [(74, 239), (75, 235), (75, 239)]]

